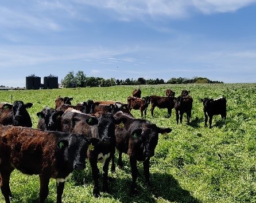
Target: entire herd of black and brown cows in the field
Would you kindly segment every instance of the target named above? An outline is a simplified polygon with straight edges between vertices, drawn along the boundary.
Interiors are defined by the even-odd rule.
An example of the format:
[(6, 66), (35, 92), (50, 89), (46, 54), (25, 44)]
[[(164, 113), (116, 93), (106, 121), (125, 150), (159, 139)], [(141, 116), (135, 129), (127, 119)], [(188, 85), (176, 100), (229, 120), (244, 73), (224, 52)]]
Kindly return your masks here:
[[(170, 128), (160, 128), (146, 117), (151, 104), (154, 108), (166, 108), (168, 117), (172, 109), (176, 112), (176, 121), (183, 121), (187, 115), (187, 124), (191, 119), (193, 99), (189, 91), (183, 90), (176, 98), (175, 92), (167, 89), (166, 97), (150, 95), (141, 98), (141, 90), (134, 90), (127, 98), (127, 104), (118, 101), (92, 101), (72, 105), (73, 98), (57, 97), (55, 109), (46, 106), (37, 113), (37, 128), (32, 128), (27, 108), (32, 103), (15, 101), (13, 104), (0, 104), (0, 186), (5, 202), (10, 202), (10, 174), (14, 169), (24, 174), (38, 174), (40, 177), (40, 202), (48, 196), (50, 178), (56, 179), (57, 202), (61, 202), (65, 181), (73, 170), (83, 170), (86, 159), (90, 162), (93, 194), (109, 192), (108, 168), (115, 172), (115, 149), (118, 150), (119, 168), (122, 168), (122, 153), (130, 160), (132, 184), (131, 195), (136, 192), (138, 177), (137, 161), (143, 162), (145, 181), (150, 185), (149, 163), (154, 156), (158, 135), (170, 133)], [(205, 126), (209, 117), (220, 114), (226, 118), (226, 98), (200, 99), (203, 102)], [(141, 111), (141, 118), (134, 118), (131, 109)], [(99, 184), (102, 166), (102, 184)], [(100, 186), (102, 185), (102, 189)]]

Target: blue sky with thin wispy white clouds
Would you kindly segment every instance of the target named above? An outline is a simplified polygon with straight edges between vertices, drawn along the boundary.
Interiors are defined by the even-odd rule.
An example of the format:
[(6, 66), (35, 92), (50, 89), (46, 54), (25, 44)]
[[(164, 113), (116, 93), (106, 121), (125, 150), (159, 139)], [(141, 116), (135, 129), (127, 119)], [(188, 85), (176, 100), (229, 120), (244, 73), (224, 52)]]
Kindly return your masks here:
[(256, 0), (4, 0), (0, 85), (87, 77), (256, 82)]

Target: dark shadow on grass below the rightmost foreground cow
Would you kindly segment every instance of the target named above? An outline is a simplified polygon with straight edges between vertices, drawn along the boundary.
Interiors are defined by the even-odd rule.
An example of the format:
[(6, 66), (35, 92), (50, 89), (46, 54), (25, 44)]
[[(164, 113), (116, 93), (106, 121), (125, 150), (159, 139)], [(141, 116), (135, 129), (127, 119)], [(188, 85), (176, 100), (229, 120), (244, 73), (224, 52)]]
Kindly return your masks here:
[[(153, 173), (150, 180), (152, 186), (145, 184), (145, 180), (141, 175), (138, 177), (136, 196), (130, 196), (131, 179), (122, 178), (117, 180), (111, 188), (113, 188), (112, 196), (120, 202), (157, 202), (157, 199), (162, 199), (170, 202), (179, 203), (200, 203), (193, 197), (188, 190), (181, 188), (179, 182), (169, 174)], [(121, 181), (121, 183), (118, 183)], [(112, 185), (112, 184), (111, 184)]]

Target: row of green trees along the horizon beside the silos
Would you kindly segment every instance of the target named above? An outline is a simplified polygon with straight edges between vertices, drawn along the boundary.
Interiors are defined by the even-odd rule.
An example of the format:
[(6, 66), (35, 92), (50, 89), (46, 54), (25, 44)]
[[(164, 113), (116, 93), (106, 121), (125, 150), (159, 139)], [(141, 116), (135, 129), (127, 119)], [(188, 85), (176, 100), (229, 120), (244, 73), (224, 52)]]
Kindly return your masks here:
[(193, 77), (189, 78), (170, 78), (168, 81), (164, 79), (145, 79), (145, 78), (127, 78), (127, 79), (104, 79), (100, 77), (86, 77), (83, 71), (79, 70), (75, 74), (74, 71), (69, 71), (63, 79), (61, 79), (61, 85), (63, 87), (108, 87), (115, 85), (158, 85), (158, 84), (184, 84), (184, 83), (224, 83), (220, 81), (211, 81), (208, 78)]

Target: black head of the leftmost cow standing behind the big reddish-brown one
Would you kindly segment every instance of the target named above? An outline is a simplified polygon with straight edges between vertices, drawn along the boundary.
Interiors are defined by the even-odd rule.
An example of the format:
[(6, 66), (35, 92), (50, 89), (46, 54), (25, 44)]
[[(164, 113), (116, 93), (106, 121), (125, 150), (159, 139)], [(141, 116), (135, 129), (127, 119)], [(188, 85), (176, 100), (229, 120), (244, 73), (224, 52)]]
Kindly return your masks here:
[(32, 121), (29, 116), (27, 108), (31, 108), (33, 104), (24, 104), (22, 101), (14, 101), (13, 103), (13, 125), (32, 127)]

